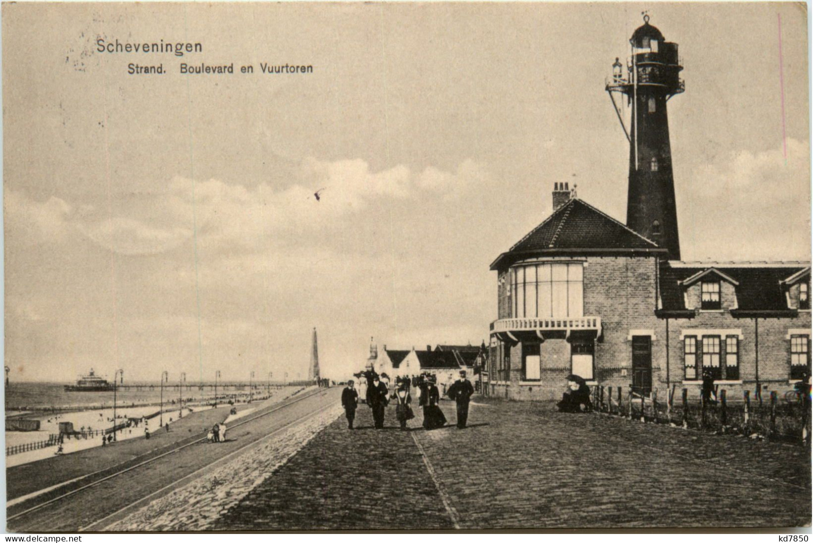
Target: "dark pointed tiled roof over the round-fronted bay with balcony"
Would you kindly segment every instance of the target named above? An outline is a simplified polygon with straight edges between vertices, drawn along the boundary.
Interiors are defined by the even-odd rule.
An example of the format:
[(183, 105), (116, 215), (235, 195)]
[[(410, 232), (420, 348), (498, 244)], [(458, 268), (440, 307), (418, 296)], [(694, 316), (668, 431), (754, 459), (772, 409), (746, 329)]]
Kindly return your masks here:
[(492, 264), (491, 269), (510, 265), (510, 260), (522, 258), (534, 253), (556, 252), (563, 250), (583, 251), (659, 251), (654, 241), (646, 239), (626, 225), (598, 211), (586, 202), (572, 198), (550, 217), (528, 232), (510, 250), (501, 254)]

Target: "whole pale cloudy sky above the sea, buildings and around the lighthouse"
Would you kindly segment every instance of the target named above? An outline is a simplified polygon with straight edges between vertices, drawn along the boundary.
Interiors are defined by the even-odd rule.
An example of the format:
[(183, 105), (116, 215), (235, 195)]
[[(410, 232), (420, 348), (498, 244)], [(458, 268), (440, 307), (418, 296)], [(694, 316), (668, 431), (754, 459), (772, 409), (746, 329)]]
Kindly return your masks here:
[[(685, 64), (668, 105), (683, 257), (810, 258), (802, 5), (2, 9), (13, 380), (305, 376), (313, 327), (336, 378), (371, 336), (479, 344), (489, 263), (550, 213), (554, 182), (625, 219), (604, 79), (645, 9)], [(203, 52), (99, 54), (98, 37)]]

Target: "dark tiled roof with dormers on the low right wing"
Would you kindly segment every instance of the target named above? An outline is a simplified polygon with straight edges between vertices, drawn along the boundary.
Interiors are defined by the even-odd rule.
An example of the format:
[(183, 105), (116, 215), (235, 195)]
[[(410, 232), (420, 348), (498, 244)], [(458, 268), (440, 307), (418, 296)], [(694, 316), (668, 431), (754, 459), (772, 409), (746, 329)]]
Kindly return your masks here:
[(682, 264), (663, 263), (660, 268), (660, 291), (663, 309), (666, 311), (684, 311), (684, 287), (679, 281), (688, 279), (709, 268), (720, 269), (727, 276), (736, 280), (734, 286), (737, 293), (737, 311), (788, 311), (788, 302), (785, 291), (780, 285), (781, 280), (805, 269), (803, 263), (777, 267), (770, 265), (756, 267), (753, 264), (747, 267), (737, 267), (731, 264), (721, 266), (720, 263), (707, 263), (702, 267), (685, 267)]

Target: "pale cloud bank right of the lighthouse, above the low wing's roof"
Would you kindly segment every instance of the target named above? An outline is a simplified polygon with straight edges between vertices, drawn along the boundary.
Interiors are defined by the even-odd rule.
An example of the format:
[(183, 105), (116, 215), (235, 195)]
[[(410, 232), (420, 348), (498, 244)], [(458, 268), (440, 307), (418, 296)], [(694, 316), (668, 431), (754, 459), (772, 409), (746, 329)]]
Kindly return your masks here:
[[(810, 258), (807, 141), (728, 154), (696, 168), (678, 198), (684, 259)], [(680, 179), (678, 180), (680, 184)]]

